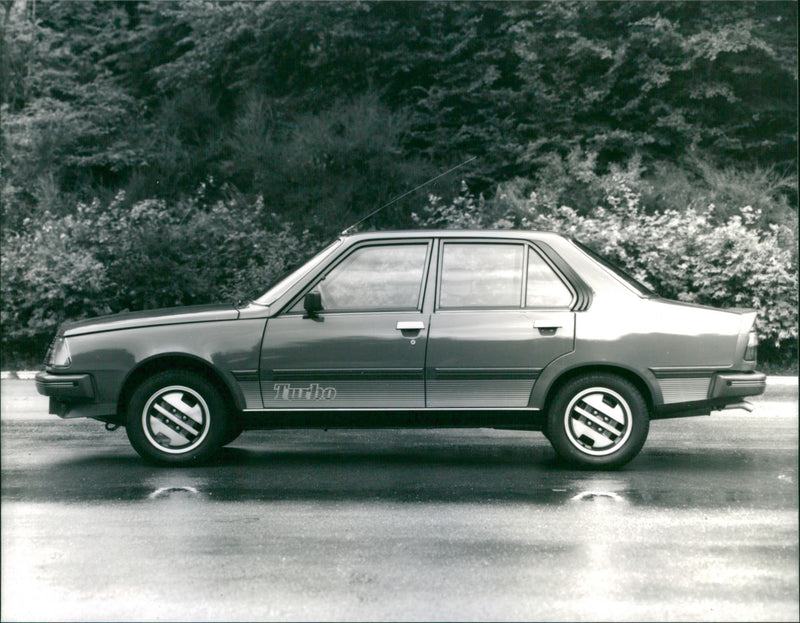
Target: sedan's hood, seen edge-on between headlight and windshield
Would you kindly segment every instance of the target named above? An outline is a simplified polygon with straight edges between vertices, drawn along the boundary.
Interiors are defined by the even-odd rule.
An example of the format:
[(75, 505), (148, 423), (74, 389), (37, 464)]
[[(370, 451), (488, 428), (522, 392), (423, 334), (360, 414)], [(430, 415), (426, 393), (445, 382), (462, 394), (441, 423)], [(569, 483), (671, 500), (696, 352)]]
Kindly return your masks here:
[(154, 327), (166, 324), (236, 320), (238, 317), (239, 312), (232, 304), (169, 307), (140, 312), (122, 312), (109, 316), (78, 320), (77, 322), (65, 322), (61, 325), (59, 334), (69, 337), (87, 333), (99, 333), (101, 331), (118, 331), (120, 329), (136, 329), (138, 327)]

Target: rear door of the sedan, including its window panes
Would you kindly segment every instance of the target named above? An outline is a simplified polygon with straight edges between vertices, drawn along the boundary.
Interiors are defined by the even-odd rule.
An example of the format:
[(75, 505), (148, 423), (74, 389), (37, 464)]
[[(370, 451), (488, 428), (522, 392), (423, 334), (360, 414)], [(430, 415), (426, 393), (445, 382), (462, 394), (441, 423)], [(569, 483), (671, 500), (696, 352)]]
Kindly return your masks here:
[(525, 241), (439, 244), (426, 405), (526, 407), (539, 372), (574, 348), (574, 290)]

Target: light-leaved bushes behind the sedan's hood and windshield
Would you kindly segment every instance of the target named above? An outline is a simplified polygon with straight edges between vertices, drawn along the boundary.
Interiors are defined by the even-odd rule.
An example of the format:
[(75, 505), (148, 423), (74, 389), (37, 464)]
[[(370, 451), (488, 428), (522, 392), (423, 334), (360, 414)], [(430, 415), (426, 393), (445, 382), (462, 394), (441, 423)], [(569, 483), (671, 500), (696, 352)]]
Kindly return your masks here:
[(26, 231), (6, 236), (4, 358), (36, 362), (64, 320), (266, 291), (314, 243), (268, 214), (261, 199), (206, 204), (204, 188), (175, 203), (132, 206), (120, 193), (74, 215), (28, 219)]

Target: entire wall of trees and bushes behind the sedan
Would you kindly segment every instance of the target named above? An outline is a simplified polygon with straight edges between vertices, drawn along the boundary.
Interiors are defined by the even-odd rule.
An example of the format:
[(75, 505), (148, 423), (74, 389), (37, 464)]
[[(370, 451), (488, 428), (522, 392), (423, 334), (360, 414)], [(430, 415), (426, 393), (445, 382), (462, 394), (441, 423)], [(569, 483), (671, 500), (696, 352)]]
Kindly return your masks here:
[(0, 0), (0, 20), (4, 359), (65, 318), (263, 289), (472, 156), (371, 225), (606, 241), (796, 348), (795, 2)]

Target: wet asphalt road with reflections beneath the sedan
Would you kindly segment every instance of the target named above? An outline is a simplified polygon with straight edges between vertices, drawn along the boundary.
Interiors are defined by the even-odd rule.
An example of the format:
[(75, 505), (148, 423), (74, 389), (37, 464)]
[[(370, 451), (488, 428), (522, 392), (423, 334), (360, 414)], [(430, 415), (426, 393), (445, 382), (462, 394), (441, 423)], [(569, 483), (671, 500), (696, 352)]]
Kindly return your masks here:
[(486, 429), (248, 432), (157, 468), (2, 392), (4, 621), (800, 619), (796, 384), (654, 422), (606, 473)]

